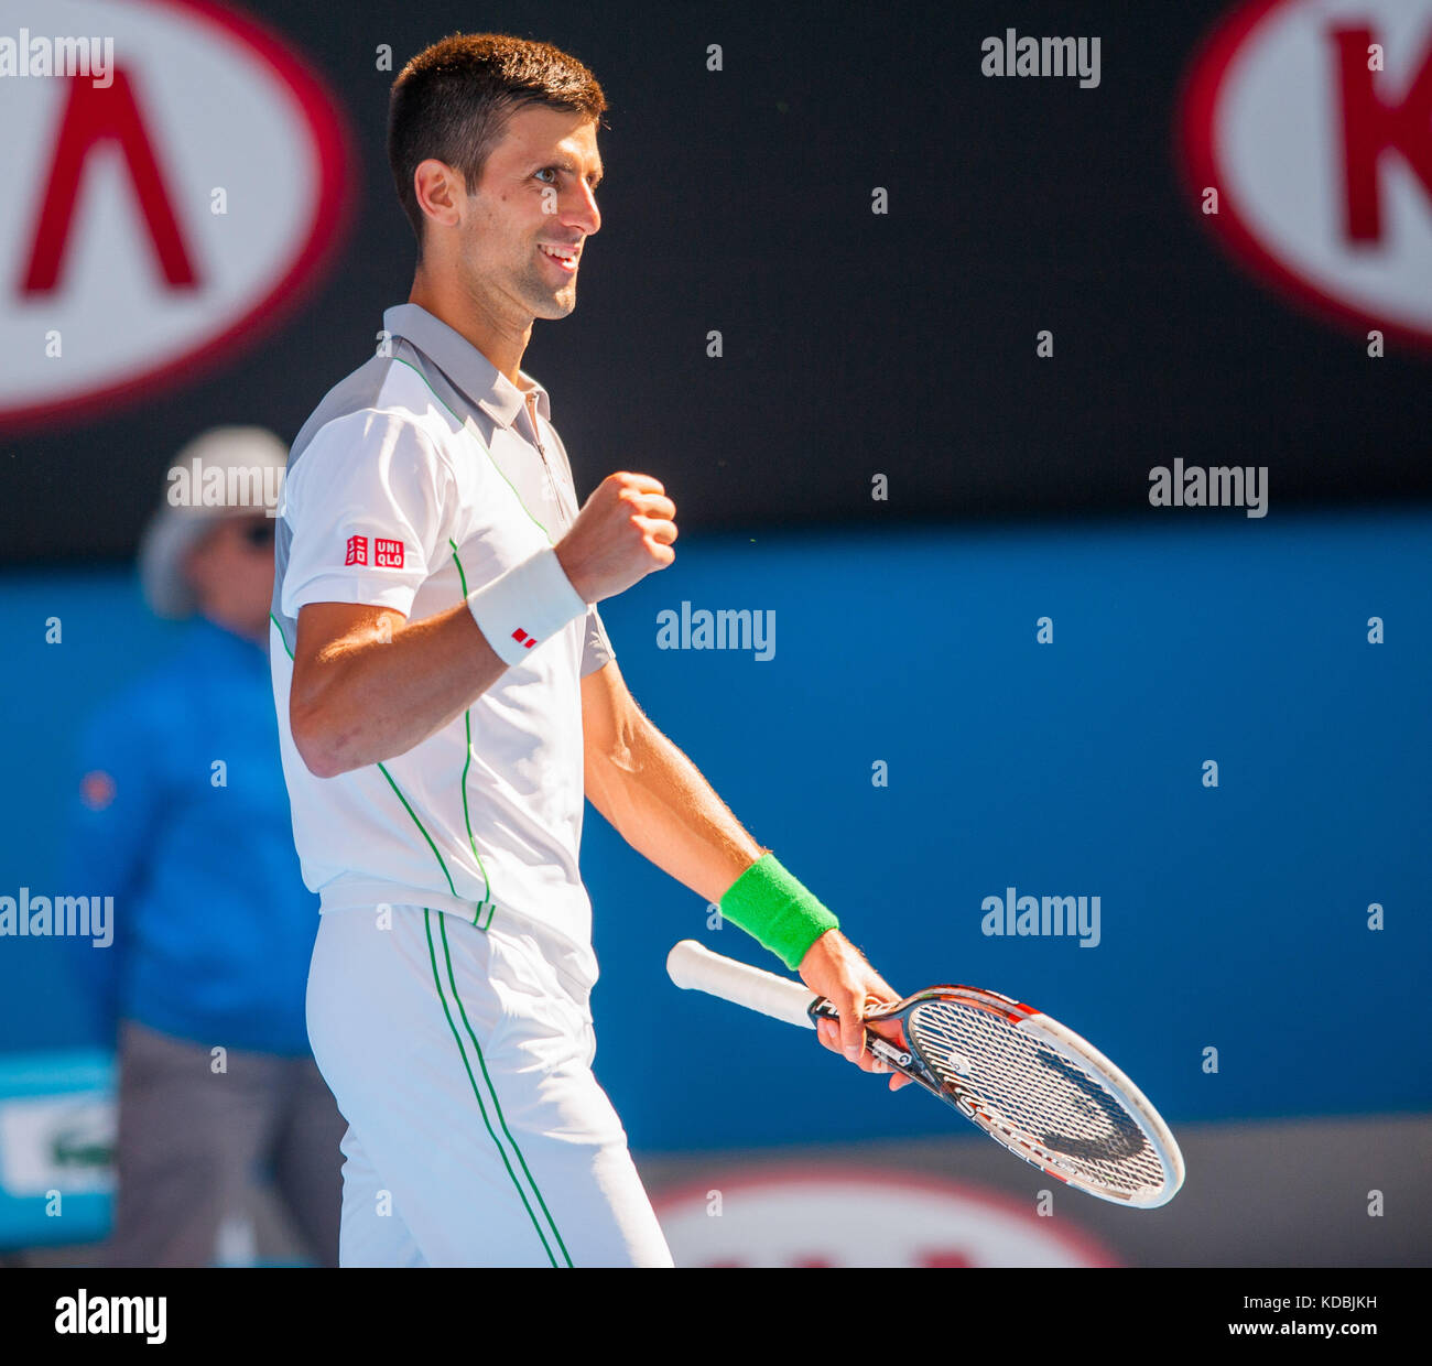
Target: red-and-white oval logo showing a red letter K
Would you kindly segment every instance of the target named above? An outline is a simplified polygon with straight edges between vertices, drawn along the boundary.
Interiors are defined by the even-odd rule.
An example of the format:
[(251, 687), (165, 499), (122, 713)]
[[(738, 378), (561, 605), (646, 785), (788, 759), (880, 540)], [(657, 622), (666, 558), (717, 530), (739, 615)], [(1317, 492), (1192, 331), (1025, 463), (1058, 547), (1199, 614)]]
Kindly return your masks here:
[(1432, 345), (1432, 0), (1237, 7), (1191, 70), (1183, 152), (1194, 210), (1252, 269)]

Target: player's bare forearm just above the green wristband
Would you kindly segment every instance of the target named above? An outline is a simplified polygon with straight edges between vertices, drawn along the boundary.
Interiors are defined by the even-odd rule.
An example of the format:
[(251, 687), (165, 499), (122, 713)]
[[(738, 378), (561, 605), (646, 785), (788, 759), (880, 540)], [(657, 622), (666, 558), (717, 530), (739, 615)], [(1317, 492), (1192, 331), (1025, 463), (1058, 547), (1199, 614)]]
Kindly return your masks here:
[(647, 720), (589, 752), (587, 796), (637, 853), (709, 902), (765, 852), (696, 765)]

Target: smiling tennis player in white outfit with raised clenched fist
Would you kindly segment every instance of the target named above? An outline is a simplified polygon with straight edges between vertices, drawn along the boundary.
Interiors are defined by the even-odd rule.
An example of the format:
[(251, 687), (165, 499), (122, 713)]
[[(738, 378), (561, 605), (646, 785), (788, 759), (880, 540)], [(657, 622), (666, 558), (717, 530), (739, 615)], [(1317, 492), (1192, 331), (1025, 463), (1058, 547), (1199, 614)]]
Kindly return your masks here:
[[(619, 471), (577, 507), (547, 391), (601, 225), (593, 74), (546, 43), (447, 39), (392, 87), (418, 241), (378, 355), (289, 454), (272, 669), (322, 919), (309, 1038), (348, 1121), (345, 1266), (664, 1266), (591, 1074), (583, 798), (841, 1012), (898, 999), (621, 679), (597, 603), (674, 558), (676, 507)], [(894, 1075), (892, 1084), (905, 1078)]]

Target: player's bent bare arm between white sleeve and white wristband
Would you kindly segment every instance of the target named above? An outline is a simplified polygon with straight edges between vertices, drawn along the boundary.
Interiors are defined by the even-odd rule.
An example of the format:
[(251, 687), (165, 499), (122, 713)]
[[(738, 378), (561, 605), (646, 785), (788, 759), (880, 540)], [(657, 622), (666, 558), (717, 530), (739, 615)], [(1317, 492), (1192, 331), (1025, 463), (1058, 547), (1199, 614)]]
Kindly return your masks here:
[[(306, 609), (305, 609), (306, 611)], [(294, 742), (321, 778), (407, 753), (460, 716), (507, 664), (467, 604), (405, 624), (385, 613), (332, 640), (295, 672), (289, 699)]]

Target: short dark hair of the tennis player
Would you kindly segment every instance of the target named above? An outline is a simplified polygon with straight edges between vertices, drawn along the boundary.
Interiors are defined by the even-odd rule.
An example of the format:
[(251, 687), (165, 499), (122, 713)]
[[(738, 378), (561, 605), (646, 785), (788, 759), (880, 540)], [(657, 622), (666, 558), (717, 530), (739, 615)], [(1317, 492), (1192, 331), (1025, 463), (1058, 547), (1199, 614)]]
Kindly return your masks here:
[(420, 52), (392, 83), (388, 165), (422, 252), (422, 209), (412, 175), (430, 156), (463, 175), (471, 192), (507, 122), (528, 105), (600, 120), (596, 76), (551, 43), (505, 33), (454, 33)]

